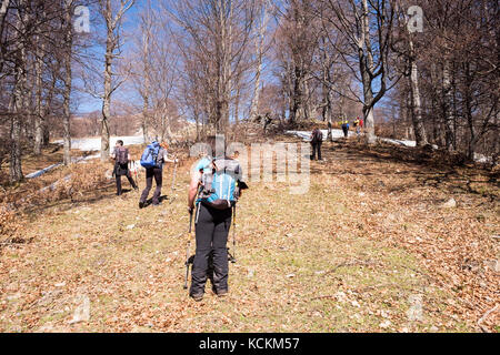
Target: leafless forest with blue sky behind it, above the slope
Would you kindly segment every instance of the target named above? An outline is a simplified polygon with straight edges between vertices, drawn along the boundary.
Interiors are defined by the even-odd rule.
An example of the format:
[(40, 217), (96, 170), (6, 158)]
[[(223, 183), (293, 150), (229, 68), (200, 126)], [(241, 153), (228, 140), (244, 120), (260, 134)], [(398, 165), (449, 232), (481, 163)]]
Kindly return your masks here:
[[(369, 142), (391, 134), (498, 160), (494, 0), (1, 4), (0, 162), (12, 183), (22, 153), (52, 138), (69, 164), (72, 135), (100, 135), (106, 160), (118, 132), (173, 142), (191, 122), (199, 140), (266, 118), (331, 128), (360, 115)], [(89, 100), (99, 110), (82, 124)]]

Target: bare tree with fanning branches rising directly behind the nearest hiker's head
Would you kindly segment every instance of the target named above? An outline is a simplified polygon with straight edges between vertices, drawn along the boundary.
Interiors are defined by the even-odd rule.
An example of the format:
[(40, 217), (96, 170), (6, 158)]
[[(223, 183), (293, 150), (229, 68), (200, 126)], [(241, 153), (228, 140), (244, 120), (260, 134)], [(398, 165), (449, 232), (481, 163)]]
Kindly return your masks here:
[[(246, 70), (246, 58), (254, 20), (254, 0), (166, 1), (173, 20), (172, 33), (184, 59), (198, 61), (197, 81), (208, 100), (200, 106), (217, 131), (229, 125), (234, 83)], [(187, 65), (188, 64), (188, 65)], [(189, 70), (188, 70), (189, 72)], [(192, 71), (191, 71), (192, 73)], [(194, 79), (186, 75), (184, 79)]]

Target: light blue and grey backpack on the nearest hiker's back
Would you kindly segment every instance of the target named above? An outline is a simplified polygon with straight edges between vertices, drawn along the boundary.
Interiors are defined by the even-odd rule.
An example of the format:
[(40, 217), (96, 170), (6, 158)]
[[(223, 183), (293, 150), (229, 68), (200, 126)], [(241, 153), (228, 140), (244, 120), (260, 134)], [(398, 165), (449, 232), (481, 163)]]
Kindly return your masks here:
[[(212, 169), (207, 169), (212, 165)], [(238, 201), (238, 175), (240, 164), (231, 159), (216, 159), (204, 166), (201, 176), (199, 202), (208, 204), (217, 210), (226, 210)]]

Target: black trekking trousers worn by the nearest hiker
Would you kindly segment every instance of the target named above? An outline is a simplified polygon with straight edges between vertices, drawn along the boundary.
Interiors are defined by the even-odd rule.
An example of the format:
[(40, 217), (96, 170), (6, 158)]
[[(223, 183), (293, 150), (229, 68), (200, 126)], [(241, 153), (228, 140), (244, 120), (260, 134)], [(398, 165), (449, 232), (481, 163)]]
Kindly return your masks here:
[[(209, 263), (212, 286), (217, 293), (228, 291), (228, 235), (231, 226), (232, 210), (216, 210), (199, 204), (196, 212), (197, 251), (191, 272), (190, 295), (204, 293), (209, 277)], [(212, 257), (210, 261), (209, 258)], [(210, 266), (212, 266), (210, 265)]]

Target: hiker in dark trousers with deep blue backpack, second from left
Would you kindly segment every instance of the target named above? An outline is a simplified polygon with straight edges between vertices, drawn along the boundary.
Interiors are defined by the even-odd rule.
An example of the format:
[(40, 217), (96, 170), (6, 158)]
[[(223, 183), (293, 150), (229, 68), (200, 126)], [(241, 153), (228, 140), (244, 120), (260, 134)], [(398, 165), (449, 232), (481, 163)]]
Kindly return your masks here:
[(153, 206), (160, 204), (161, 185), (163, 183), (163, 163), (174, 163), (176, 160), (169, 159), (167, 152), (167, 145), (161, 145), (158, 142), (149, 144), (141, 156), (141, 165), (146, 169), (146, 189), (142, 191), (141, 199), (139, 200), (139, 209), (146, 206), (149, 192), (152, 187), (152, 180), (157, 183), (157, 189), (152, 197)]

